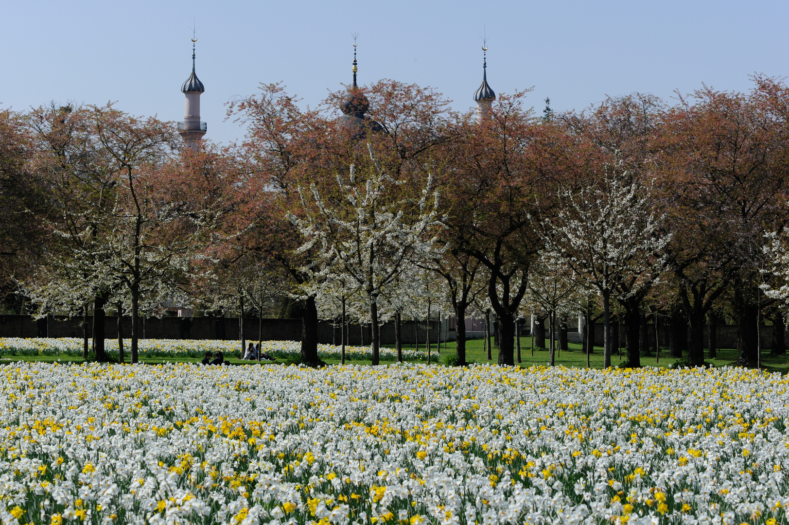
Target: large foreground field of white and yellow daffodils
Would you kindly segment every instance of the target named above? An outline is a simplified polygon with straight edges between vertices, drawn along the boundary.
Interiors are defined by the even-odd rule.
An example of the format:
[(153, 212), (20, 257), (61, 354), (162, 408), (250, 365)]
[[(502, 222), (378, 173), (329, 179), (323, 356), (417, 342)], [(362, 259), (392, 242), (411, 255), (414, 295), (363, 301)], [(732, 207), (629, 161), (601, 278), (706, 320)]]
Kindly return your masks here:
[(3, 523), (787, 523), (787, 380), (0, 368)]

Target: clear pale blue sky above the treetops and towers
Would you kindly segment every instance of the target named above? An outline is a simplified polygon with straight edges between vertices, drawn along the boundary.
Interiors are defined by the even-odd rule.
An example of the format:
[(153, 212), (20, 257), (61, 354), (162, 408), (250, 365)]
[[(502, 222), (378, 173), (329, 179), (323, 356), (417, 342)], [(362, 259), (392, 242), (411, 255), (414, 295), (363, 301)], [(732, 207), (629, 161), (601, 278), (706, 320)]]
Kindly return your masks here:
[(11, 2), (0, 18), (0, 107), (106, 103), (182, 118), (196, 17), (202, 118), (213, 141), (240, 139), (225, 103), (282, 81), (315, 106), (359, 80), (432, 86), (465, 110), (482, 75), (495, 92), (534, 86), (542, 111), (606, 95), (669, 98), (701, 87), (747, 90), (751, 73), (789, 74), (789, 2)]

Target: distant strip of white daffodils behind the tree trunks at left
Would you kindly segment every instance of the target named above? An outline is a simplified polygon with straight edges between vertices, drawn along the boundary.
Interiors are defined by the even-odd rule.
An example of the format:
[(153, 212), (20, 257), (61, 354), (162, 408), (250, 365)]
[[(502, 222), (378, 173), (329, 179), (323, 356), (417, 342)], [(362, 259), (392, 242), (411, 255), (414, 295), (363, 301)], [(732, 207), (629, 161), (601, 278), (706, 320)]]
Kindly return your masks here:
[[(255, 341), (252, 341), (255, 343)], [(105, 339), (107, 354), (118, 357), (118, 339)], [(128, 354), (131, 339), (124, 339), (124, 347)], [(3, 356), (35, 356), (35, 355), (82, 355), (83, 340), (77, 337), (0, 337), (0, 354)], [(222, 339), (138, 339), (140, 358), (202, 358), (210, 351), (222, 351), (226, 356), (241, 358), (241, 343), (237, 340)], [(264, 341), (263, 350), (275, 358), (296, 359), (301, 355), (299, 341)], [(318, 357), (322, 359), (339, 359), (341, 347), (334, 344), (319, 344)], [(403, 349), (406, 361), (427, 360), (427, 351)], [(438, 356), (433, 355), (435, 360)], [(346, 359), (369, 360), (372, 358), (370, 347), (346, 347)], [(380, 349), (381, 361), (396, 361), (397, 351), (391, 348)]]

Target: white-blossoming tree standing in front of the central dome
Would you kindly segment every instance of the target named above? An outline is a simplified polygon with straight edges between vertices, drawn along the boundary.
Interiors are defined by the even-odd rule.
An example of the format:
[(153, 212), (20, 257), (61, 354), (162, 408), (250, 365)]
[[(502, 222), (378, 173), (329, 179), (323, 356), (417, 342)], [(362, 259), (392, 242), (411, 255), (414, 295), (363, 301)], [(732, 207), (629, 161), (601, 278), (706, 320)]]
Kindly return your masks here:
[(363, 173), (352, 164), (347, 178), (337, 175), (341, 199), (324, 198), (312, 186), (301, 193), (305, 208), (313, 211), (305, 218), (290, 215), (290, 219), (306, 239), (300, 250), (317, 248), (316, 261), (305, 268), (315, 276), (309, 287), (338, 278), (360, 287), (369, 305), (372, 363), (377, 365), (379, 297), (394, 283), (406, 261), (424, 258), (433, 249), (439, 193), (428, 176), (413, 213), (406, 213), (396, 198), (399, 192), (394, 191), (405, 181), (387, 173), (369, 144), (368, 153), (370, 162)]

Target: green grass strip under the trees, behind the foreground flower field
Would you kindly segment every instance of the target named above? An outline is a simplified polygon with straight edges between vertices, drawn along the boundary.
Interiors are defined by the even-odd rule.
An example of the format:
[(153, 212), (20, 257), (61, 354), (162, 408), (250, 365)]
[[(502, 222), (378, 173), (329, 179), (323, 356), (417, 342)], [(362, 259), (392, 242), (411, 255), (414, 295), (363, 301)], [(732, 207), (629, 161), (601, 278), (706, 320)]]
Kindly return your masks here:
[[(534, 351), (532, 355), (531, 351), (531, 339), (529, 337), (522, 337), (521, 338), (521, 362), (520, 366), (529, 367), (535, 365), (548, 365), (548, 351)], [(404, 348), (415, 348), (415, 345), (406, 345)], [(444, 345), (441, 345), (442, 350), (441, 353), (443, 355), (454, 354), (455, 346), (454, 342), (447, 343), (446, 350), (444, 350)], [(556, 354), (556, 365), (562, 366), (577, 366), (577, 367), (585, 367), (586, 366), (586, 355), (581, 353), (581, 344), (580, 343), (569, 343), (570, 351), (567, 352), (557, 352)], [(424, 344), (421, 344), (420, 348), (424, 350)], [(437, 347), (436, 344), (431, 345), (432, 351), (436, 352)], [(769, 372), (780, 372), (782, 374), (789, 373), (789, 358), (787, 356), (771, 356), (769, 351), (764, 351), (761, 354), (761, 362), (762, 367)], [(487, 356), (484, 352), (484, 339), (471, 339), (466, 341), (466, 360), (469, 362), (477, 362), (477, 363), (492, 363), (495, 364), (498, 358), (498, 349), (493, 348), (492, 360), (487, 359)], [(731, 365), (735, 362), (737, 358), (737, 351), (731, 348), (724, 348), (723, 350), (718, 351), (718, 357), (716, 359), (707, 359), (707, 361), (712, 362), (715, 366), (726, 366)], [(622, 350), (622, 354), (619, 355), (616, 351), (611, 356), (611, 364), (613, 366), (618, 365), (620, 362), (626, 360), (626, 355), (624, 349)], [(18, 361), (30, 361), (30, 362), (75, 362), (81, 363), (83, 359), (81, 357), (69, 357), (66, 355), (63, 356), (9, 356), (3, 355), (0, 358), (0, 365), (7, 365), (12, 362)], [(129, 362), (129, 358), (127, 356), (126, 361)], [(230, 363), (236, 365), (251, 365), (254, 362), (250, 361), (242, 361), (241, 359), (237, 358), (230, 358), (228, 359)], [(517, 361), (517, 354), (516, 354), (516, 361)], [(641, 366), (661, 366), (667, 367), (671, 365), (671, 363), (675, 362), (676, 358), (671, 358), (668, 356), (668, 351), (664, 349), (660, 350), (660, 362), (656, 361), (656, 358), (653, 357), (641, 357)], [(148, 365), (159, 365), (164, 362), (200, 362), (199, 358), (144, 358), (140, 359), (140, 362), (144, 362)], [(284, 362), (285, 364), (289, 364), (287, 360), (279, 360), (278, 362)], [(339, 364), (338, 359), (327, 359), (326, 362), (330, 365)], [(358, 361), (348, 361), (346, 363), (353, 364), (353, 365), (369, 365), (371, 364), (368, 360), (358, 360)], [(383, 361), (382, 364), (391, 363), (388, 361)], [(602, 347), (594, 347), (594, 352), (589, 356), (589, 364), (592, 368), (603, 368), (603, 348)]]

